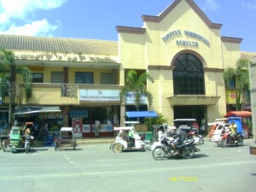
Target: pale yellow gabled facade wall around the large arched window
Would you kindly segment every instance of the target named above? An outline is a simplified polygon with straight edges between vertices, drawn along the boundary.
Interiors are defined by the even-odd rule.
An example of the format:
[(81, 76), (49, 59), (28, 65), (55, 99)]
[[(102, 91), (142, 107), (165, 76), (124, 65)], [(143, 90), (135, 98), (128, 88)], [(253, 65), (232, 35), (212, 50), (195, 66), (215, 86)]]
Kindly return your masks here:
[[(240, 43), (232, 38), (230, 41), (224, 39), (223, 42), (220, 29), (209, 28), (201, 16), (194, 9), (190, 9), (186, 0), (179, 2), (162, 20), (144, 21), (143, 34), (119, 32), (120, 61), (123, 68), (148, 68), (155, 80), (154, 84), (148, 83), (148, 90), (154, 96), (149, 110), (163, 113), (172, 120), (173, 106), (168, 101), (168, 97), (174, 96), (172, 62), (183, 53), (197, 56), (205, 71), (205, 96), (220, 96), (216, 105), (207, 105), (207, 121), (210, 122), (226, 113), (222, 73), (225, 67), (234, 66), (240, 58)], [(185, 31), (203, 36), (209, 44), (186, 35)], [(174, 35), (164, 40), (170, 32)], [(198, 46), (183, 46), (177, 44), (177, 41), (196, 42)], [(155, 69), (152, 66), (162, 68)]]

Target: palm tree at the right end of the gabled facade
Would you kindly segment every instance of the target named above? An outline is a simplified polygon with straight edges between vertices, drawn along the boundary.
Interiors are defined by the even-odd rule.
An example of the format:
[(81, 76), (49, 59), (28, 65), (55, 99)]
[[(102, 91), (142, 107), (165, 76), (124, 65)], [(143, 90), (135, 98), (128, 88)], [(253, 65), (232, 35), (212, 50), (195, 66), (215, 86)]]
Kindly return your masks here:
[(236, 86), (236, 111), (241, 110), (241, 95), (245, 91), (249, 91), (249, 73), (248, 73), (249, 61), (244, 58), (240, 58), (236, 61), (236, 68), (228, 67), (224, 70), (223, 78), (225, 88), (229, 89), (230, 83), (235, 81)]

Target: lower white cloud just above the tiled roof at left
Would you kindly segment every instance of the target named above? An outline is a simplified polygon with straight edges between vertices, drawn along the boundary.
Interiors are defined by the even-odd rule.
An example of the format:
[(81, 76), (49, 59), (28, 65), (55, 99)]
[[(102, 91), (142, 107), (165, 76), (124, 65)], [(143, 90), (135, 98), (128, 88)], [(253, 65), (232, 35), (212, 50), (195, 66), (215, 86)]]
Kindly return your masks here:
[(58, 28), (58, 25), (50, 25), (47, 20), (37, 20), (25, 26), (9, 26), (3, 34), (27, 35), (27, 36), (51, 36), (51, 33)]

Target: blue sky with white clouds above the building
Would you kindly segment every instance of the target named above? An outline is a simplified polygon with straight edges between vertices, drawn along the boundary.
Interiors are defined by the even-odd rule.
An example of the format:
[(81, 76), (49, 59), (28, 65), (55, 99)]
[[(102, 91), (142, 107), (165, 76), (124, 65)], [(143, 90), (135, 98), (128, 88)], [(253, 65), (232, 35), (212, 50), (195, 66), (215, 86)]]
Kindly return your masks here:
[[(220, 34), (256, 53), (256, 0), (194, 0)], [(0, 0), (0, 33), (118, 41), (116, 26), (142, 27), (173, 0)]]

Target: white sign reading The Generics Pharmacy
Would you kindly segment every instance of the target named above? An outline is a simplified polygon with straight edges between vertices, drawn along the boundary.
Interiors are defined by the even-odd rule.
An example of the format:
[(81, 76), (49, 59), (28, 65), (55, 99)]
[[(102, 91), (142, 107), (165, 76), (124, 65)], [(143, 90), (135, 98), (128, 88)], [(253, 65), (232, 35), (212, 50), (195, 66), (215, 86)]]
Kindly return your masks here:
[(119, 90), (80, 90), (80, 102), (120, 102)]

